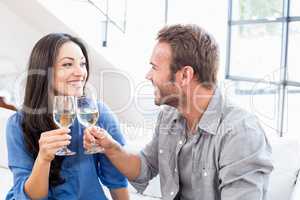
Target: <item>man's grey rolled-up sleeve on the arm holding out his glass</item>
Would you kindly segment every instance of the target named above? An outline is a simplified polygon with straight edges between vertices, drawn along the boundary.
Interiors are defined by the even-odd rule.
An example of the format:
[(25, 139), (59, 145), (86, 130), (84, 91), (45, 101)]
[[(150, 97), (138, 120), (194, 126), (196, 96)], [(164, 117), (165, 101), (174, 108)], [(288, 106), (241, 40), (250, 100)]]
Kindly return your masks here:
[(141, 159), (140, 174), (135, 180), (130, 181), (131, 185), (139, 193), (143, 193), (148, 186), (149, 181), (158, 174), (158, 138), (161, 119), (162, 112), (158, 115), (152, 140), (139, 153)]

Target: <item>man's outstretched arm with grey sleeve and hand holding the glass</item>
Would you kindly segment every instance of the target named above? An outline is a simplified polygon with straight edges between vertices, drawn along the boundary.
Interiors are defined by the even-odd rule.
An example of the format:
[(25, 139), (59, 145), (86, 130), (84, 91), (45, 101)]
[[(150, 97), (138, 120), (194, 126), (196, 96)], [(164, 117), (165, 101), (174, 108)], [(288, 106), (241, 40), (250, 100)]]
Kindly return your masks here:
[(84, 147), (89, 149), (92, 141), (102, 146), (105, 149), (106, 157), (123, 175), (132, 181), (131, 183), (139, 192), (142, 192), (147, 187), (149, 180), (158, 174), (158, 127), (161, 118), (162, 112), (158, 116), (152, 140), (139, 154), (126, 151), (104, 129), (96, 127), (85, 129)]

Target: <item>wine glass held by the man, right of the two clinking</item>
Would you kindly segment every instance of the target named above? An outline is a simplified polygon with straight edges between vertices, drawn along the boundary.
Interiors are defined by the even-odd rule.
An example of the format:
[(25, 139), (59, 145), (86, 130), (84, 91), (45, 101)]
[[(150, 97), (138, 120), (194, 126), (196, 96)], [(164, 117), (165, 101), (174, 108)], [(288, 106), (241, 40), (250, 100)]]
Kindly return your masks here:
[[(99, 111), (97, 101), (93, 96), (77, 97), (77, 118), (84, 127), (95, 126), (98, 118)], [(96, 144), (95, 140), (92, 141), (92, 147), (85, 150), (86, 154), (103, 153), (104, 149)]]

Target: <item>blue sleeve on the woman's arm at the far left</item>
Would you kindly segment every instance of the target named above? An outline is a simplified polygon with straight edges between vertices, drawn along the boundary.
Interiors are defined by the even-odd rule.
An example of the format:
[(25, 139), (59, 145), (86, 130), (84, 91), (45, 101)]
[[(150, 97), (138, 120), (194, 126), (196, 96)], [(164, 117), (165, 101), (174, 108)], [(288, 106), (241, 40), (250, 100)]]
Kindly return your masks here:
[(13, 187), (7, 194), (7, 200), (30, 199), (24, 191), (24, 185), (31, 173), (34, 161), (26, 149), (20, 124), (20, 114), (15, 114), (10, 117), (6, 126), (8, 166), (14, 179)]

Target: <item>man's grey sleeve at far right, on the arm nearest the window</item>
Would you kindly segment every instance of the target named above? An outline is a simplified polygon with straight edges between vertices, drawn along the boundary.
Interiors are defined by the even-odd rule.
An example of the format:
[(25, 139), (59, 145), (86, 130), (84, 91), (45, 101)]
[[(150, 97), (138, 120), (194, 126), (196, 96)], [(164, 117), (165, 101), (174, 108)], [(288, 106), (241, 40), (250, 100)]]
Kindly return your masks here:
[(254, 117), (241, 120), (223, 137), (220, 155), (222, 200), (263, 200), (273, 169), (271, 147)]

